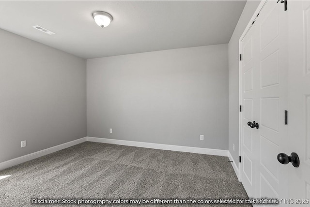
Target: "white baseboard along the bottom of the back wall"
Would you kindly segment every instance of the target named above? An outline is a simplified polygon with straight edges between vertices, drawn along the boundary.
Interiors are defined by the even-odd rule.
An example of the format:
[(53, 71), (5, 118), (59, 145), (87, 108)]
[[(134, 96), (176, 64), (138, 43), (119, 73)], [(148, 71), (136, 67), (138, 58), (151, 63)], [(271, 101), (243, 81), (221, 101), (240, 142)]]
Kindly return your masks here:
[(114, 139), (106, 139), (106, 138), (98, 138), (98, 137), (87, 137), (87, 141), (96, 142), (96, 143), (120, 144), (120, 145), (126, 145), (126, 146), (137, 146), (137, 147), (145, 147), (145, 148), (152, 148), (152, 149), (163, 149), (163, 150), (172, 150), (172, 151), (179, 151), (179, 152), (191, 152), (191, 153), (198, 153), (198, 154), (228, 157), (228, 150), (222, 150), (222, 149), (209, 149), (209, 148), (201, 148), (201, 147), (178, 146), (178, 145), (158, 144), (158, 143), (143, 143), (143, 142), (114, 140)]

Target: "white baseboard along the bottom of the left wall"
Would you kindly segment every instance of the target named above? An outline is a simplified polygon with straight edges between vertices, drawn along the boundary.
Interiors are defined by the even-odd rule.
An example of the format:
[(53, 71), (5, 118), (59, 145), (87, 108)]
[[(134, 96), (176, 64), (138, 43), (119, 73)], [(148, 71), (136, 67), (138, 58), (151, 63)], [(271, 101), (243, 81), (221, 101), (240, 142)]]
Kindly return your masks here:
[(59, 144), (57, 146), (49, 147), (47, 149), (43, 149), (43, 150), (28, 154), (28, 155), (24, 155), (24, 156), (15, 158), (15, 159), (10, 159), (8, 161), (0, 162), (0, 170), (4, 170), (6, 168), (18, 165), (20, 163), (30, 161), (31, 159), (36, 159), (36, 158), (48, 155), (50, 153), (57, 152), (59, 150), (68, 148), (70, 146), (86, 142), (86, 140), (87, 140), (87, 137), (83, 137), (83, 138), (80, 138), (78, 140), (74, 140), (71, 142)]

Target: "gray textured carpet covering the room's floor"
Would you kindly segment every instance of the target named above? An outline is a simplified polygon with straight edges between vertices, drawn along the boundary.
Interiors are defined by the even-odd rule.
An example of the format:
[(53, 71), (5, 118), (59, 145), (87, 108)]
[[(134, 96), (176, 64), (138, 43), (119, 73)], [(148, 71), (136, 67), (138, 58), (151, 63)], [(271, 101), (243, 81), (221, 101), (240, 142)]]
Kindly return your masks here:
[[(31, 203), (33, 198), (72, 199), (72, 202), (73, 199), (129, 202), (135, 199), (248, 198), (227, 157), (116, 144), (81, 143), (2, 170), (0, 176), (3, 175), (11, 176), (0, 180), (0, 207), (78, 206), (34, 205)], [(133, 207), (142, 204), (79, 206)]]

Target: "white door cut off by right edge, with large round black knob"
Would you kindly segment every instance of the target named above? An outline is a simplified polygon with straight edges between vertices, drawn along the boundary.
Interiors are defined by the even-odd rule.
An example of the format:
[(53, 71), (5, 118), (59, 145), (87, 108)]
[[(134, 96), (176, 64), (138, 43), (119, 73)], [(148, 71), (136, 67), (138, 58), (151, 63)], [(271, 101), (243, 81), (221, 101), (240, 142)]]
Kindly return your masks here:
[(290, 144), (284, 153), (297, 153), (300, 165), (285, 165), (290, 174), (288, 198), (294, 199), (286, 203), (310, 207), (310, 1), (289, 1), (288, 12)]

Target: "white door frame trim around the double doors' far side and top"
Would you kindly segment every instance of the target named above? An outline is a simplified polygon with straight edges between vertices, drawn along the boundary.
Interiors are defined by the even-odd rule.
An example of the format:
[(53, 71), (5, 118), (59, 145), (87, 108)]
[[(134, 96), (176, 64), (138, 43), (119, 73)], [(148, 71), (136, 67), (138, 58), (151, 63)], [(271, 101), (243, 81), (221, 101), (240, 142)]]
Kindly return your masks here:
[[(263, 6), (267, 3), (268, 0), (262, 0), (260, 2), (260, 4), (258, 5), (257, 9), (255, 10), (253, 16), (250, 18), (250, 21), (248, 22), (247, 27), (245, 28), (245, 30), (243, 31), (243, 33), (241, 34), (240, 38), (239, 38), (239, 54), (242, 54), (242, 48), (241, 48), (241, 41), (243, 40), (243, 38), (246, 36), (246, 34), (248, 33), (248, 31), (250, 30), (250, 28), (252, 27), (252, 23), (255, 21), (257, 14), (260, 13), (260, 11), (263, 9)], [(239, 61), (239, 105), (242, 106), (242, 99), (241, 99), (241, 61)], [(242, 147), (242, 139), (241, 139), (241, 128), (242, 128), (242, 115), (243, 115), (243, 107), (241, 112), (239, 112), (239, 152), (238, 155), (241, 156), (241, 147)], [(242, 158), (241, 158), (242, 159)], [(235, 160), (234, 160), (235, 161)], [(239, 182), (241, 182), (241, 162), (238, 161), (238, 173), (237, 173), (237, 177)], [(242, 161), (242, 160), (241, 160)]]

